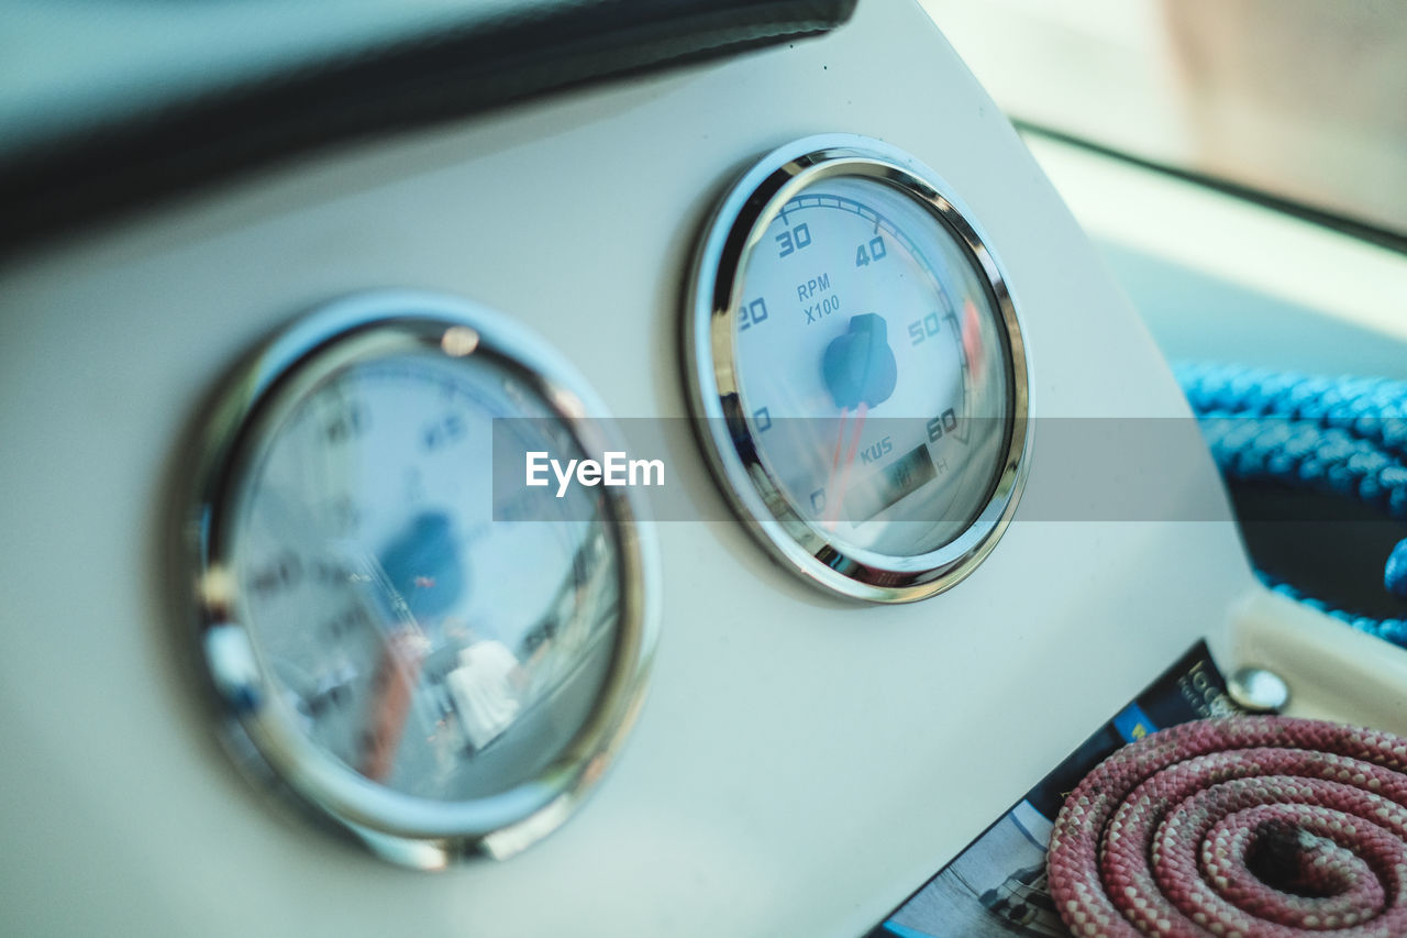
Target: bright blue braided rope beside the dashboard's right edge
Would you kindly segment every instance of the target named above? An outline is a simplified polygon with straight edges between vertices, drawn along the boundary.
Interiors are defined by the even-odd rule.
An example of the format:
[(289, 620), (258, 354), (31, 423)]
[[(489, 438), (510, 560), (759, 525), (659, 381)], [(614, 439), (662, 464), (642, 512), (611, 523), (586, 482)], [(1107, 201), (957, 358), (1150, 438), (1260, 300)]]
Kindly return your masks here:
[[(1325, 492), (1407, 520), (1407, 382), (1211, 363), (1173, 370), (1228, 480)], [(1407, 648), (1407, 620), (1359, 615), (1265, 572), (1261, 579), (1278, 593)], [(1407, 600), (1407, 539), (1387, 558), (1383, 586)]]

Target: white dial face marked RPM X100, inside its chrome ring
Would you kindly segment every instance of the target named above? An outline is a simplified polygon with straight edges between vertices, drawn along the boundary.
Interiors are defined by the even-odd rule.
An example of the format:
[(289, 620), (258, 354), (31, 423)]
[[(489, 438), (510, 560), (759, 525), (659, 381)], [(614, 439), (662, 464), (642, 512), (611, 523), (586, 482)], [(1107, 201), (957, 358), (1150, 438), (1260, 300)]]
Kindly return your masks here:
[(823, 535), (889, 556), (982, 510), (1010, 406), (989, 290), (902, 190), (823, 179), (784, 203), (741, 276), (737, 384), (757, 454)]

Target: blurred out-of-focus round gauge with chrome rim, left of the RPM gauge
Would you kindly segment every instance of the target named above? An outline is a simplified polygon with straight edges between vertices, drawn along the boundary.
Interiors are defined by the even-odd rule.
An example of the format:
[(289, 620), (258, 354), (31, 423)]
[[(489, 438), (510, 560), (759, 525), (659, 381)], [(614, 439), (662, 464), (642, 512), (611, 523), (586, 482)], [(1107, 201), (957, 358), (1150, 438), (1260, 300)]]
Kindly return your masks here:
[(629, 496), (526, 487), (509, 459), (602, 452), (587, 413), (501, 317), (374, 293), (274, 339), (210, 421), (190, 534), (215, 692), (260, 766), (390, 859), (521, 849), (635, 714), (653, 625)]

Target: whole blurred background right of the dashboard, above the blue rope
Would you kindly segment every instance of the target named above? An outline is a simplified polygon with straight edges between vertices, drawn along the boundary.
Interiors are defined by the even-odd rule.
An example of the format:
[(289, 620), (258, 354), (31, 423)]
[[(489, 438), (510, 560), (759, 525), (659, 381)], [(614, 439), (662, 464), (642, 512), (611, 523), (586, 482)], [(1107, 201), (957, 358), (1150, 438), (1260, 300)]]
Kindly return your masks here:
[(922, 1), (1169, 359), (1407, 380), (1407, 1)]

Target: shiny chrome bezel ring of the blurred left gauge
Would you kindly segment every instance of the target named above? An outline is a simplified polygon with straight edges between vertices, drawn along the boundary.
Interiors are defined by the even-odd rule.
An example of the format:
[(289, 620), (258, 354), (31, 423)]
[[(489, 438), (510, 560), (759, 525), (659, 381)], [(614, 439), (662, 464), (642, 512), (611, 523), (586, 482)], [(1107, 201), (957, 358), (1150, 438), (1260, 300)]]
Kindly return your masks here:
[[(442, 348), (449, 328), (477, 335), (470, 352)], [(464, 335), (464, 334), (461, 334)], [(332, 301), (277, 335), (225, 386), (200, 432), (196, 493), (186, 515), (186, 575), (194, 599), (198, 658), (215, 692), (227, 744), (260, 777), (272, 770), (301, 804), (356, 834), (374, 853), (412, 868), (509, 856), (560, 825), (601, 777), (643, 700), (657, 634), (656, 561), (639, 506), (625, 487), (602, 489), (605, 530), (619, 555), (620, 611), (613, 659), (587, 723), (536, 777), (463, 801), (380, 786), (310, 742), (286, 706), (265, 693), (267, 672), (234, 620), (228, 518), (241, 477), (279, 417), (335, 370), (386, 354), (431, 351), (446, 361), (490, 358), (543, 401), (587, 454), (618, 445), (604, 407), (570, 363), (526, 330), (471, 303), (426, 293), (374, 292)], [(252, 745), (249, 745), (252, 744)]]

